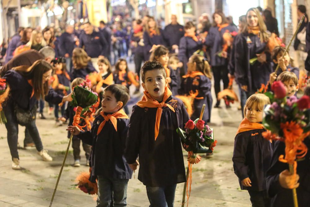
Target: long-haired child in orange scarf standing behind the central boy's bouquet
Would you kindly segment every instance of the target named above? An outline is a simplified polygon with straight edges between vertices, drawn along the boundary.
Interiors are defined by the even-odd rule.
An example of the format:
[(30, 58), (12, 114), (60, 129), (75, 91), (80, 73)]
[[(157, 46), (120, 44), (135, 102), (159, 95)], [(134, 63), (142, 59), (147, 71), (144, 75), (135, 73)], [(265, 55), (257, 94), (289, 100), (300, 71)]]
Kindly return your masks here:
[(188, 74), (182, 77), (180, 92), (194, 98), (194, 113), (191, 119), (199, 118), (201, 107), (203, 104), (206, 104), (202, 120), (210, 122), (212, 109), (210, 65), (203, 56), (192, 55), (188, 60), (187, 66)]

